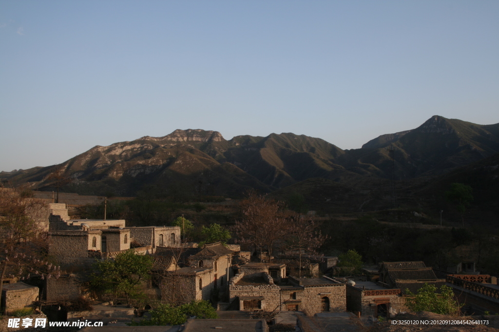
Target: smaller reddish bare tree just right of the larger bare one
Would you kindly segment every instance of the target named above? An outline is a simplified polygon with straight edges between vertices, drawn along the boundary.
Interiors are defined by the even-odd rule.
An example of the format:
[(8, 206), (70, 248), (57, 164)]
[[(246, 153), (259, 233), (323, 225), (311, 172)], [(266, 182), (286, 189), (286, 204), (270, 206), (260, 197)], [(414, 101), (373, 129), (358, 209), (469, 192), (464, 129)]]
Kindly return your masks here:
[(311, 218), (294, 218), (290, 225), (289, 237), (287, 238), (284, 248), (287, 250), (298, 250), (299, 269), (298, 277), (301, 278), (301, 255), (303, 251), (308, 253), (317, 253), (327, 235), (322, 235), (318, 230), (319, 225)]

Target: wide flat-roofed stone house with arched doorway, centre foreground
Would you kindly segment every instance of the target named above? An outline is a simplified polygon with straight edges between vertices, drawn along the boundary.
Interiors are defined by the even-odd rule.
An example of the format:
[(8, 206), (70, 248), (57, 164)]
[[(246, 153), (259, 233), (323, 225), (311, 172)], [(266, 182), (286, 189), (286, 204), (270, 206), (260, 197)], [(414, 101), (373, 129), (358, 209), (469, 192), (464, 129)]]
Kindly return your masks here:
[(346, 286), (329, 278), (288, 277), (276, 285), (267, 272), (246, 275), (244, 270), (230, 281), (230, 301), (239, 310), (304, 311), (307, 315), (346, 310)]

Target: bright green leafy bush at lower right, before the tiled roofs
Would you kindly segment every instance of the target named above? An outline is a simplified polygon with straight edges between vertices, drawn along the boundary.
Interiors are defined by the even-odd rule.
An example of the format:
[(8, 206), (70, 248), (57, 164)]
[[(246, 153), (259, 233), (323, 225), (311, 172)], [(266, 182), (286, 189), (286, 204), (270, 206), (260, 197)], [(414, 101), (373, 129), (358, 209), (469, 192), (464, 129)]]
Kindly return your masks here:
[(440, 315), (457, 315), (462, 305), (454, 300), (452, 288), (443, 285), (440, 288), (440, 294), (437, 293), (437, 287), (432, 284), (425, 284), (420, 288), (417, 294), (406, 290), (409, 297), (406, 298), (406, 304), (412, 311), (429, 311)]

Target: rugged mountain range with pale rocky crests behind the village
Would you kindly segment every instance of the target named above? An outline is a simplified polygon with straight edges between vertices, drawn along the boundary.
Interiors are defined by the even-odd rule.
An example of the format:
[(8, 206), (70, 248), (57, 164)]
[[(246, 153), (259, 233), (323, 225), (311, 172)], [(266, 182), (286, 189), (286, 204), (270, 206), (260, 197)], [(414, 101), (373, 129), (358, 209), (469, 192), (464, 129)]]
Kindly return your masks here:
[[(320, 138), (293, 133), (226, 140), (218, 131), (178, 129), (163, 137), (95, 146), (59, 167), (73, 179), (67, 190), (80, 194), (155, 190), (170, 196), (241, 196), (250, 188), (270, 192), (311, 178), (354, 186), (366, 176), (395, 175), (399, 180), (440, 173), (498, 153), (498, 134), (499, 124), (432, 116), (416, 129), (344, 151)], [(1, 172), (0, 178), (51, 190), (54, 168)]]

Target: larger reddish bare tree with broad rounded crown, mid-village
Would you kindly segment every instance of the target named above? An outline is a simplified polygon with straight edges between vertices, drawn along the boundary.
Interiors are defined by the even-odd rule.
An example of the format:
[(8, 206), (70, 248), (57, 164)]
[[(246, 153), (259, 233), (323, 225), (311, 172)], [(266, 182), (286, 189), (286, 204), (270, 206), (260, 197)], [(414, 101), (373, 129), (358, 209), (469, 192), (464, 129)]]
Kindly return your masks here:
[(289, 220), (283, 214), (283, 204), (267, 200), (254, 191), (240, 204), (243, 218), (236, 222), (235, 230), (242, 243), (253, 244), (261, 252), (268, 251), (269, 262), (272, 260), (274, 244), (289, 234)]

